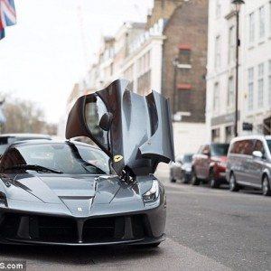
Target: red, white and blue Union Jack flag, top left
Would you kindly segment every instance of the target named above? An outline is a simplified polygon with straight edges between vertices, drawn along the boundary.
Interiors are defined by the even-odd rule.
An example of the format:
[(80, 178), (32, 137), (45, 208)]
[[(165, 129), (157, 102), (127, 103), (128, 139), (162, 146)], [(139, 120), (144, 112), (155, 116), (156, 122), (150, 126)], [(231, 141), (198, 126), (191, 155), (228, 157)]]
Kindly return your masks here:
[(0, 0), (0, 29), (16, 23), (14, 0)]

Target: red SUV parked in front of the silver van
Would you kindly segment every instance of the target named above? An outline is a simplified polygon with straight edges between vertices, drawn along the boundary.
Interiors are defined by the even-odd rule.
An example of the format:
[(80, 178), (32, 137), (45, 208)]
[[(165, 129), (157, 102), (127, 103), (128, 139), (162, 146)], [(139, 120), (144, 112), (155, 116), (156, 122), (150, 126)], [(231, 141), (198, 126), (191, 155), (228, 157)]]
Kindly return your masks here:
[(211, 188), (219, 188), (226, 181), (226, 164), (229, 144), (201, 145), (192, 158), (192, 185), (210, 182)]

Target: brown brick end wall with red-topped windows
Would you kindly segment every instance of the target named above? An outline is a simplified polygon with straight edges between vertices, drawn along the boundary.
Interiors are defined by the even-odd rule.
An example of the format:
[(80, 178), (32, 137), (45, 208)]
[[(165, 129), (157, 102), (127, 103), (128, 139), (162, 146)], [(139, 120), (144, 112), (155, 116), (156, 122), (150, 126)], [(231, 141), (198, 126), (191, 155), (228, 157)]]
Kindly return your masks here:
[[(182, 122), (205, 122), (207, 31), (206, 0), (179, 5), (164, 29), (162, 89), (171, 98), (174, 113), (181, 115)], [(175, 80), (174, 60), (178, 65)]]

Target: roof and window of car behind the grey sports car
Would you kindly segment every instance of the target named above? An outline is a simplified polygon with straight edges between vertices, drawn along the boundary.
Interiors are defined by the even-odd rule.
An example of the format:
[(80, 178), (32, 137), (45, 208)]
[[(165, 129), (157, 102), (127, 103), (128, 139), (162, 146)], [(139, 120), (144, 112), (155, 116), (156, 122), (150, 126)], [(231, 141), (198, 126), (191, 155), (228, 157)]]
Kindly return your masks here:
[(50, 135), (41, 134), (3, 134), (0, 135), (0, 155), (5, 153), (6, 148), (17, 141), (32, 140), (32, 139), (48, 139), (51, 140)]

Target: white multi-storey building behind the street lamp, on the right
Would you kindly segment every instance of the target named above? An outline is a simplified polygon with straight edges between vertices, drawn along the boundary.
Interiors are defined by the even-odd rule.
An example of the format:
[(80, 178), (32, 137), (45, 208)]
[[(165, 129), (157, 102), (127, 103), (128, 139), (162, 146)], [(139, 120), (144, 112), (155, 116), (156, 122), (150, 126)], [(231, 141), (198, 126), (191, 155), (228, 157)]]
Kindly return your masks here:
[[(239, 14), (238, 135), (270, 134), (271, 4), (245, 0)], [(210, 0), (206, 121), (209, 137), (234, 136), (236, 14), (231, 1)], [(244, 131), (242, 124), (253, 124)]]

